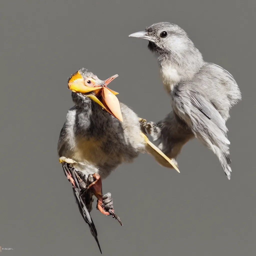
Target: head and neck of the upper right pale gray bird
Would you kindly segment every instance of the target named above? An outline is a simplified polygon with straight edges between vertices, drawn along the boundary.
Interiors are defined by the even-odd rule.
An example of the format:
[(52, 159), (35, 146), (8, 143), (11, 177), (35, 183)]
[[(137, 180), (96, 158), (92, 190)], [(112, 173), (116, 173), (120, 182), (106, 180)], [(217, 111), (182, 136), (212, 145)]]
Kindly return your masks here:
[(159, 54), (159, 65), (170, 65), (180, 71), (185, 70), (184, 76), (189, 77), (202, 65), (203, 59), (200, 51), (188, 38), (187, 33), (178, 25), (169, 22), (159, 22), (146, 27), (145, 31), (140, 31), (129, 35), (147, 39), (148, 48), (152, 52)]

